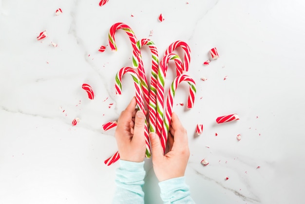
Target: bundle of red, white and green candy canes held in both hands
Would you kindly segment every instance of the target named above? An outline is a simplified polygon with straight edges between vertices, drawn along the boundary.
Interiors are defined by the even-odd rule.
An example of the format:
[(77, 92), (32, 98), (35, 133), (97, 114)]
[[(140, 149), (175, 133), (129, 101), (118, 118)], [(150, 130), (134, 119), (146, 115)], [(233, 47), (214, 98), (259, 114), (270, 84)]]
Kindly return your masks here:
[[(151, 157), (151, 148), (149, 142), (149, 132), (155, 132), (159, 137), (165, 151), (168, 131), (170, 129), (173, 99), (178, 85), (181, 82), (189, 84), (189, 96), (187, 107), (192, 108), (194, 105), (196, 84), (195, 81), (185, 73), (189, 70), (191, 61), (191, 50), (189, 45), (184, 41), (173, 42), (165, 51), (159, 63), (158, 50), (155, 44), (150, 39), (137, 40), (133, 30), (125, 23), (115, 23), (111, 26), (109, 31), (109, 45), (112, 50), (117, 50), (115, 43), (115, 32), (122, 29), (128, 35), (133, 47), (133, 68), (123, 67), (115, 76), (115, 90), (116, 94), (122, 93), (122, 76), (130, 74), (133, 77), (135, 86), (135, 98), (137, 107), (140, 111), (145, 111), (145, 103), (149, 109), (149, 118), (145, 121), (145, 138), (146, 138), (146, 157)], [(142, 57), (141, 47), (148, 46), (152, 54), (152, 69), (151, 69), (151, 83), (148, 85), (147, 76), (145, 73)], [(174, 54), (176, 48), (184, 50), (184, 60)], [(165, 79), (168, 69), (169, 61), (173, 60), (176, 66), (176, 77), (172, 82), (171, 88), (168, 91), (167, 99), (165, 100)], [(115, 121), (110, 121), (103, 125), (104, 130), (109, 130), (116, 126)], [(106, 165), (111, 165), (119, 159), (119, 153), (116, 152), (112, 157), (105, 160)]]

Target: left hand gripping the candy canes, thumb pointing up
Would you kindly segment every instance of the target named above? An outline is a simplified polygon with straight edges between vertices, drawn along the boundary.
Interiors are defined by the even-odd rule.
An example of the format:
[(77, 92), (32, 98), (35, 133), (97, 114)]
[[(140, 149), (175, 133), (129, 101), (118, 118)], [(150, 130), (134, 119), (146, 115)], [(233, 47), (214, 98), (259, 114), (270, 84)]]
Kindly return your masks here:
[(115, 139), (121, 160), (143, 162), (146, 145), (144, 136), (145, 114), (135, 110), (135, 97), (121, 112), (115, 130)]

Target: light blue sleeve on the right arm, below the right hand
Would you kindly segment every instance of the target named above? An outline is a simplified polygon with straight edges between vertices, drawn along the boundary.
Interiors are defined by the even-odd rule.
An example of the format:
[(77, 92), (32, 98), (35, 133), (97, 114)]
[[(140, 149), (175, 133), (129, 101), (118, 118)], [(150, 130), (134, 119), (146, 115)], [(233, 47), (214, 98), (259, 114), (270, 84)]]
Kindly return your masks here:
[(165, 180), (159, 183), (160, 195), (164, 204), (194, 204), (185, 177)]

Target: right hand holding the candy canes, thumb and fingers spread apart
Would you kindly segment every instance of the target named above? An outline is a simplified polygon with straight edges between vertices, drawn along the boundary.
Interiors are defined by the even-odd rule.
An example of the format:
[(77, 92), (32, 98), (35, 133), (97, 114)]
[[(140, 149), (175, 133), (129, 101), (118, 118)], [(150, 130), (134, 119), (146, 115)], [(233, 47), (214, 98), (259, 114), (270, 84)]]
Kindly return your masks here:
[(184, 176), (190, 157), (188, 134), (183, 128), (178, 116), (172, 113), (172, 122), (168, 135), (168, 152), (164, 155), (160, 138), (150, 133), (152, 145), (152, 165), (157, 179), (165, 181)]

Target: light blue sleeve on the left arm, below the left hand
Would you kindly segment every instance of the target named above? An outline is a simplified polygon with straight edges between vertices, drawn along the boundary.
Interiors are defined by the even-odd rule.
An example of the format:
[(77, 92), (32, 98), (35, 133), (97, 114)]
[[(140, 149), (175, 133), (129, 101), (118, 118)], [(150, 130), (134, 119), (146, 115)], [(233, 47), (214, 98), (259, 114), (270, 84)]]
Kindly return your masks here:
[(144, 161), (137, 163), (119, 160), (119, 163), (113, 204), (144, 204)]

